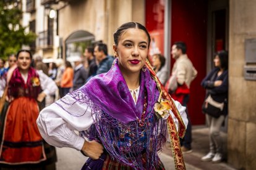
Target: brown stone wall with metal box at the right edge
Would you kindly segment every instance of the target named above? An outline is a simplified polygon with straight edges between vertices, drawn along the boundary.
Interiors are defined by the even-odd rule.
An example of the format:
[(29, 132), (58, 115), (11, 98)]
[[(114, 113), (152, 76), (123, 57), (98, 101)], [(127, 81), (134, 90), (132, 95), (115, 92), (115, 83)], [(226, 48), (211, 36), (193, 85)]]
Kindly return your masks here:
[(244, 65), (245, 39), (256, 39), (256, 1), (230, 0), (229, 10), (228, 163), (255, 169), (256, 81), (244, 79)]

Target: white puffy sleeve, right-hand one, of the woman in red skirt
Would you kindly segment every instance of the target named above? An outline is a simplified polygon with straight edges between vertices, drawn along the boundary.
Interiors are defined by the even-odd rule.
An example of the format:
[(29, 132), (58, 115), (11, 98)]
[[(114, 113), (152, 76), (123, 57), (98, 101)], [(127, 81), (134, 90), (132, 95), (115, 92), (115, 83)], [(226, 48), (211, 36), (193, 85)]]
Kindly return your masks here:
[(46, 95), (53, 95), (57, 91), (58, 87), (53, 79), (49, 78), (42, 70), (36, 70), (38, 73), (41, 88)]

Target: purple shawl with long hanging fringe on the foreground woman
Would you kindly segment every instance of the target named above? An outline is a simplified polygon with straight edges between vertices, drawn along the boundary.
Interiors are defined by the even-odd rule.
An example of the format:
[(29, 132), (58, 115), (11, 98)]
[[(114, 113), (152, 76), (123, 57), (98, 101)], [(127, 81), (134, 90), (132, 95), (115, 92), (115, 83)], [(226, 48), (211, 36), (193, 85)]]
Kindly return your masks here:
[[(145, 123), (140, 124), (138, 118), (142, 116), (145, 94)], [(157, 152), (166, 142), (166, 123), (155, 118), (153, 107), (159, 92), (148, 70), (140, 73), (140, 94), (136, 105), (119, 70), (118, 60), (114, 61), (108, 73), (95, 76), (69, 95), (81, 104), (87, 103), (95, 116), (96, 123), (87, 131), (80, 132), (81, 136), (101, 142), (105, 154), (120, 163), (134, 169), (158, 169), (160, 160)], [(67, 103), (65, 98), (61, 100)], [(79, 116), (66, 111), (72, 116)], [(147, 164), (142, 163), (143, 153), (147, 155)], [(92, 169), (102, 167), (104, 158), (104, 154), (99, 160), (89, 158), (88, 166)]]

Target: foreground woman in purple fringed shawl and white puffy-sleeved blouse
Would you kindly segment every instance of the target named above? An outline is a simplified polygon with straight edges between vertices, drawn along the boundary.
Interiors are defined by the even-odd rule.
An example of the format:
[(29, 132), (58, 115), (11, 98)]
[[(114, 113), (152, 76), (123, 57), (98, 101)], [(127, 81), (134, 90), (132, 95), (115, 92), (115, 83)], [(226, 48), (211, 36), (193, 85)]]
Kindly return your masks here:
[[(114, 33), (114, 42), (111, 70), (42, 110), (37, 119), (41, 135), (49, 144), (90, 157), (82, 169), (164, 169), (158, 151), (169, 126), (159, 117), (171, 119), (174, 129), (174, 121), (180, 123), (184, 130), (185, 107), (175, 102), (176, 108), (173, 102), (174, 112), (181, 113), (173, 119), (167, 102), (158, 103), (163, 92), (146, 62), (150, 35), (144, 26), (125, 23)], [(179, 148), (174, 152), (182, 157)]]

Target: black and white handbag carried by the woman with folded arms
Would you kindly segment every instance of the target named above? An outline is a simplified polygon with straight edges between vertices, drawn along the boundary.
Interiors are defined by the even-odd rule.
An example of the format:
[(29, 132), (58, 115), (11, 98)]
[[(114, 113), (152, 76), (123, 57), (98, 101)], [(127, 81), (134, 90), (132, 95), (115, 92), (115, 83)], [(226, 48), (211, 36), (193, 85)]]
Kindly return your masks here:
[(202, 110), (214, 118), (219, 118), (223, 114), (224, 102), (216, 102), (211, 95), (208, 95), (205, 102), (203, 102)]

